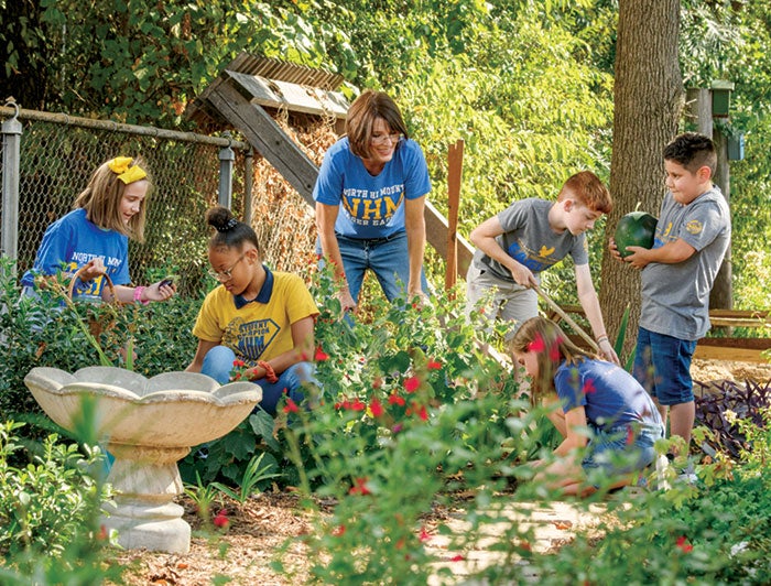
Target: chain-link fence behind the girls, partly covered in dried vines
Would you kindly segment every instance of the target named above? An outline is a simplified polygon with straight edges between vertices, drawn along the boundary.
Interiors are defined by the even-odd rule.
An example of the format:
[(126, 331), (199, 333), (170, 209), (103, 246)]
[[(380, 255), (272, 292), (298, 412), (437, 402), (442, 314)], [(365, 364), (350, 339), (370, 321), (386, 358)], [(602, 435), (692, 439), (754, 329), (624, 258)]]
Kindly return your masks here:
[[(0, 122), (14, 115), (0, 108)], [(21, 275), (35, 258), (45, 228), (69, 211), (98, 165), (118, 155), (141, 155), (152, 174), (145, 241), (131, 241), (129, 270), (135, 283), (148, 283), (162, 273), (178, 274), (180, 292), (206, 291), (204, 216), (217, 203), (219, 151), (230, 145), (234, 165), (232, 211), (245, 217), (245, 205), (260, 239), (264, 258), (278, 270), (297, 271), (312, 263), (315, 226), (302, 197), (262, 158), (253, 169), (248, 145), (226, 138), (174, 132), (149, 127), (21, 110), (19, 170), (18, 270)], [(282, 126), (286, 123), (282, 120)], [(312, 121), (284, 130), (298, 141), (316, 163), (335, 140), (332, 124)], [(2, 152), (0, 150), (0, 156)], [(246, 197), (247, 169), (252, 173), (254, 198)], [(0, 177), (4, 170), (0, 169)], [(0, 206), (0, 216), (3, 210)]]

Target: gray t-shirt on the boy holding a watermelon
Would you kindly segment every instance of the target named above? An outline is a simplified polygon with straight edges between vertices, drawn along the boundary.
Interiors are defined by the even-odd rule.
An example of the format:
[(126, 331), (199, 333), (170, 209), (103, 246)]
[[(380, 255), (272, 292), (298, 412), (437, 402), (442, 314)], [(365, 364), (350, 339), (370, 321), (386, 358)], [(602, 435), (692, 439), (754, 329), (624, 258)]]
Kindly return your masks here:
[(709, 329), (709, 291), (731, 238), (731, 216), (713, 186), (688, 205), (664, 196), (653, 248), (682, 238), (696, 249), (683, 262), (651, 262), (642, 270), (640, 325), (650, 332), (695, 340)]

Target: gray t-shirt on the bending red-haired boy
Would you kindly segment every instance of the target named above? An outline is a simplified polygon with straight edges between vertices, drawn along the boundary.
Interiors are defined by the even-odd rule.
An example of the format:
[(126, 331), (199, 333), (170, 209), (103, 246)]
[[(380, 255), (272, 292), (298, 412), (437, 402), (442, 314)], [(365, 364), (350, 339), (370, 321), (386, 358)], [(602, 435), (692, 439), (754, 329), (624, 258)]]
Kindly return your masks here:
[[(576, 265), (587, 264), (589, 253), (586, 237), (573, 236), (568, 230), (555, 232), (549, 226), (549, 210), (554, 202), (531, 197), (514, 202), (498, 214), (503, 234), (496, 242), (515, 261), (524, 264), (535, 275), (556, 264), (567, 254)], [(477, 249), (474, 262), (479, 269), (489, 270), (503, 281), (513, 283), (509, 269)]]

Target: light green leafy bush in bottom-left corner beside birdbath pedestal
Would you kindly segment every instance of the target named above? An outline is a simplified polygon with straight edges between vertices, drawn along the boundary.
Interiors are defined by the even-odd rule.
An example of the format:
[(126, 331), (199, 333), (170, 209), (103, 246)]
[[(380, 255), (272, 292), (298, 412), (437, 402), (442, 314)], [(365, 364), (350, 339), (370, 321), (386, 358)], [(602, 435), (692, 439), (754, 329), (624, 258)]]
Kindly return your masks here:
[[(117, 578), (102, 566), (99, 527), (105, 485), (90, 474), (104, 466), (98, 451), (84, 456), (56, 435), (28, 452), (17, 436), (22, 424), (0, 424), (0, 583), (97, 584)], [(26, 464), (13, 465), (14, 462)], [(98, 477), (98, 475), (96, 475)]]

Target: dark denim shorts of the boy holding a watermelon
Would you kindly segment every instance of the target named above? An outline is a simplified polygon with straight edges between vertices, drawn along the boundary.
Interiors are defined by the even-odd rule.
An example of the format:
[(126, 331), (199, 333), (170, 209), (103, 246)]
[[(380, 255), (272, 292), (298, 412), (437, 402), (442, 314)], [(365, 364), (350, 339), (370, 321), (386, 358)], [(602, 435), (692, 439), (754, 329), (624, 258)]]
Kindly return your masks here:
[(634, 378), (661, 405), (677, 405), (694, 400), (691, 360), (696, 340), (683, 340), (664, 334), (638, 329)]

